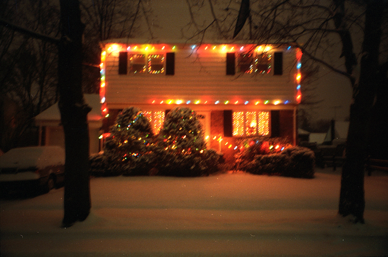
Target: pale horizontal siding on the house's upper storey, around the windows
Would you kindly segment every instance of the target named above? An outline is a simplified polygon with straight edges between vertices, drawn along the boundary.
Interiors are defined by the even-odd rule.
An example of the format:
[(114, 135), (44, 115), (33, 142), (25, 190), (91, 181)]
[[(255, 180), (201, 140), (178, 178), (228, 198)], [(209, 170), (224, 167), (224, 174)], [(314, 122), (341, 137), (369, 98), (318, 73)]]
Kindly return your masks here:
[(295, 103), (296, 53), (293, 50), (283, 53), (283, 75), (272, 74), (273, 64), (271, 73), (265, 75), (241, 75), (237, 67), (236, 75), (226, 75), (226, 52), (191, 53), (190, 48), (175, 51), (175, 75), (119, 75), (118, 54), (116, 57), (107, 54), (105, 97), (108, 107), (147, 104), (152, 99), (208, 100), (213, 103), (217, 100), (288, 100)]

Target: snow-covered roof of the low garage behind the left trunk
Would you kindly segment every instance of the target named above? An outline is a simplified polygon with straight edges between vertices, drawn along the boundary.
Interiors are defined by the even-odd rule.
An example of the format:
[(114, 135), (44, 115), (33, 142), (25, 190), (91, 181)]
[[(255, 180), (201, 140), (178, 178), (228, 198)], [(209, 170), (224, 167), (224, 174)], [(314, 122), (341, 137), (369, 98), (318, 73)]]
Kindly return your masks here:
[[(98, 94), (84, 94), (83, 97), (85, 98), (85, 102), (92, 108), (88, 113), (88, 121), (100, 121), (102, 119), (100, 96)], [(60, 120), (61, 114), (59, 113), (58, 102), (35, 116), (35, 121)]]

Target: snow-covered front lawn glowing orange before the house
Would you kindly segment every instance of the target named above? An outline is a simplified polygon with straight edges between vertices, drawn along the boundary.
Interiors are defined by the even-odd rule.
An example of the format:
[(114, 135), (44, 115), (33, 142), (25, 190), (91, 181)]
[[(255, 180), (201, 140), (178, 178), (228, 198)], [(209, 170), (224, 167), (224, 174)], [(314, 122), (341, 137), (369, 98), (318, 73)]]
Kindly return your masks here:
[(339, 171), (90, 181), (92, 210), (60, 228), (63, 188), (1, 200), (3, 256), (388, 256), (388, 175), (365, 177), (365, 224), (337, 216)]

